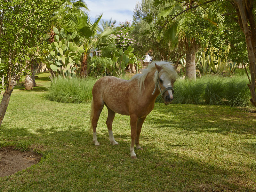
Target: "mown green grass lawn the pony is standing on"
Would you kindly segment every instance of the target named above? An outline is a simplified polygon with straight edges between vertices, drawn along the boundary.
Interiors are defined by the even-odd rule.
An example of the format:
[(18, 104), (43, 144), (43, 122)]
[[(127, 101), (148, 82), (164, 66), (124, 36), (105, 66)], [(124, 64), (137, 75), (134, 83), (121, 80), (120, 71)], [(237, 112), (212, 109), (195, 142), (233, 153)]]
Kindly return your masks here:
[[(143, 151), (130, 158), (129, 116), (116, 115), (109, 144), (104, 108), (94, 146), (90, 104), (46, 100), (45, 73), (32, 91), (16, 88), (0, 147), (43, 155), (0, 178), (0, 191), (256, 191), (256, 114), (228, 106), (157, 103), (142, 126)], [(136, 103), (135, 103), (136, 104)]]

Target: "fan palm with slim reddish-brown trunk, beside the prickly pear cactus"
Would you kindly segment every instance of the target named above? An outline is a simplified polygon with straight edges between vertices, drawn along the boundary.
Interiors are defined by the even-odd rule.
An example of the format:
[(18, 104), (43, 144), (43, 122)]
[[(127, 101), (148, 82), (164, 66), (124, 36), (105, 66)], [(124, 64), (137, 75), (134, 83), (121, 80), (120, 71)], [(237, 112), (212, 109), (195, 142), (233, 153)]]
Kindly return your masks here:
[(84, 46), (84, 56), (81, 63), (81, 76), (87, 76), (87, 57), (96, 49), (101, 50), (103, 56), (110, 57), (110, 52), (114, 50), (114, 38), (112, 34), (115, 32), (113, 28), (106, 28), (101, 31), (99, 22), (102, 17), (100, 14), (91, 22), (86, 12), (76, 12), (67, 15), (65, 22), (65, 30), (68, 34), (77, 32), (74, 41)]

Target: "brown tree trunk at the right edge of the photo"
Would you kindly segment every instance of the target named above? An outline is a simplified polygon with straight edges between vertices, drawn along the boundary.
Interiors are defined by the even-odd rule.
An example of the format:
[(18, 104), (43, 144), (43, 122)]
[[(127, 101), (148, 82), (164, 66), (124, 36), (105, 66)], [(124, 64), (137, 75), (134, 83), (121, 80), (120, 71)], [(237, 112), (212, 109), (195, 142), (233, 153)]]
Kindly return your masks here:
[[(255, 49), (253, 49), (253, 45), (256, 44), (256, 42), (252, 42), (252, 40), (256, 41), (255, 34), (252, 34), (255, 32), (255, 24), (254, 24), (254, 18), (248, 18), (247, 16), (252, 16), (252, 2), (251, 1), (245, 1), (245, 0), (234, 0), (238, 11), (237, 14), (241, 18), (241, 22), (243, 26), (240, 25), (242, 31), (244, 32), (245, 36), (245, 42), (247, 46), (247, 52), (248, 52), (248, 59), (249, 59), (249, 69), (251, 74), (251, 84), (248, 84), (250, 88), (250, 92), (252, 95), (252, 98), (250, 101), (252, 104), (256, 107), (256, 92), (255, 92), (255, 85), (256, 85), (256, 55), (254, 54)], [(250, 27), (248, 25), (248, 20), (250, 21), (250, 27), (252, 28), (250, 30)], [(243, 28), (242, 28), (243, 27)], [(254, 27), (254, 28), (253, 28)]]

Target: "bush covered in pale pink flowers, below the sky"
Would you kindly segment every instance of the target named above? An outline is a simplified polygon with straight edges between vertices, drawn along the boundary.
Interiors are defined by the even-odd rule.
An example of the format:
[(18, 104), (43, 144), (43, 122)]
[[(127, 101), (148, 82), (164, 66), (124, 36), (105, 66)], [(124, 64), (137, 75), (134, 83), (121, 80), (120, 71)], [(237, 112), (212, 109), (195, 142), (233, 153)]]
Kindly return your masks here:
[(132, 26), (129, 21), (120, 22), (119, 25), (120, 27), (117, 27), (116, 30), (116, 47), (127, 50), (129, 45), (135, 43), (131, 35)]

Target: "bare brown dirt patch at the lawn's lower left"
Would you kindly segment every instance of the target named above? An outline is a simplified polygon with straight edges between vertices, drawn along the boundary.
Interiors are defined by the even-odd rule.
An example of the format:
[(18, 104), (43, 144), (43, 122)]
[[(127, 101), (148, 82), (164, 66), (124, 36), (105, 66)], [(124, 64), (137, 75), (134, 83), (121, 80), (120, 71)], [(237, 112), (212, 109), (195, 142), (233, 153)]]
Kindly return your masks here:
[(41, 156), (32, 151), (15, 150), (13, 147), (0, 148), (0, 177), (12, 175), (40, 160)]

